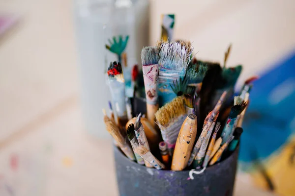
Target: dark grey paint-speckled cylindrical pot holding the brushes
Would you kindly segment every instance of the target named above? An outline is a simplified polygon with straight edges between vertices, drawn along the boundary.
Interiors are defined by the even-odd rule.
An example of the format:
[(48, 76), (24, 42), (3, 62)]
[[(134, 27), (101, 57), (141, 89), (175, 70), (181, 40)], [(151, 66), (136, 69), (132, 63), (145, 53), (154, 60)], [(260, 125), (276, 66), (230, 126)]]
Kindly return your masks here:
[(232, 196), (238, 147), (203, 173), (147, 168), (130, 161), (115, 147), (119, 196)]

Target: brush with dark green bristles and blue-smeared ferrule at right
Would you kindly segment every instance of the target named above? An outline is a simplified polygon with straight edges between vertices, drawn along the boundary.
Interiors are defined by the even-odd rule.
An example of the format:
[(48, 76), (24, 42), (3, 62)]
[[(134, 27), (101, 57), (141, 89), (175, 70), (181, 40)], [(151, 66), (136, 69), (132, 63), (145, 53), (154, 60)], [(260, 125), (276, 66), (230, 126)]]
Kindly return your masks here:
[(239, 115), (247, 106), (248, 102), (245, 102), (241, 97), (236, 96), (234, 98), (234, 106), (231, 109), (230, 115), (226, 121), (226, 124), (221, 133), (222, 144), (224, 144), (230, 136), (233, 134), (234, 125), (236, 123), (236, 117)]

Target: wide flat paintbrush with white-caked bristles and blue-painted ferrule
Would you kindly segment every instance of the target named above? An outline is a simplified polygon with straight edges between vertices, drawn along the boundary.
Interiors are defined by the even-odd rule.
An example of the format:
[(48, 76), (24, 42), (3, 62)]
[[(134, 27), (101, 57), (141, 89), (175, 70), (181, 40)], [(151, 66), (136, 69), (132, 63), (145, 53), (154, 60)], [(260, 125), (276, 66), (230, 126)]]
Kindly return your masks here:
[(170, 84), (183, 78), (188, 63), (191, 61), (193, 47), (190, 42), (159, 44), (159, 104), (160, 107), (176, 97)]

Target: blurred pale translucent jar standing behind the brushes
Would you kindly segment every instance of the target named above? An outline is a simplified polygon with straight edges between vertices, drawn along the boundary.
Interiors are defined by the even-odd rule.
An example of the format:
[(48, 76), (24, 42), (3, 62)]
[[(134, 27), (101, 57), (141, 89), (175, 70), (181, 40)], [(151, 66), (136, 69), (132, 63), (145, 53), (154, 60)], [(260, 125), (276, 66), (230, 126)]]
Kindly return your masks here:
[[(128, 68), (124, 72), (129, 72), (134, 64), (141, 65), (141, 49), (148, 46), (148, 6), (148, 0), (74, 0), (82, 110), (90, 134), (109, 135), (102, 114), (102, 108), (107, 108), (110, 100), (105, 72), (118, 57), (105, 44), (114, 36), (128, 35), (124, 51)], [(125, 80), (129, 79), (127, 76)]]

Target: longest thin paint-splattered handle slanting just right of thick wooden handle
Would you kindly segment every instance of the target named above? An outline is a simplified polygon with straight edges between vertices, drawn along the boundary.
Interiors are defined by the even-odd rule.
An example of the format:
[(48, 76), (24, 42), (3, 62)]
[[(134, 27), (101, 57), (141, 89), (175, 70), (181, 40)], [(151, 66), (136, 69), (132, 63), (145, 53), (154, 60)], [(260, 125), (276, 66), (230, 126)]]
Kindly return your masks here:
[(211, 116), (210, 116), (208, 122), (205, 124), (205, 126), (204, 126), (204, 128), (202, 130), (202, 133), (201, 133), (195, 147), (192, 150), (191, 156), (190, 156), (189, 161), (188, 161), (188, 166), (190, 166), (193, 163), (193, 160), (195, 159), (197, 153), (199, 152), (200, 147), (201, 147), (201, 145), (202, 145), (202, 143), (203, 143), (203, 141), (204, 141), (204, 139), (205, 139), (205, 137), (206, 137), (206, 135), (208, 133), (208, 130), (209, 130), (211, 124), (213, 123), (213, 121), (215, 120), (216, 115), (219, 112), (220, 107), (224, 102), (224, 99), (226, 98), (226, 95), (227, 95), (227, 92), (226, 91), (223, 92), (223, 94), (219, 98), (217, 104), (215, 105), (214, 109), (212, 110)]

